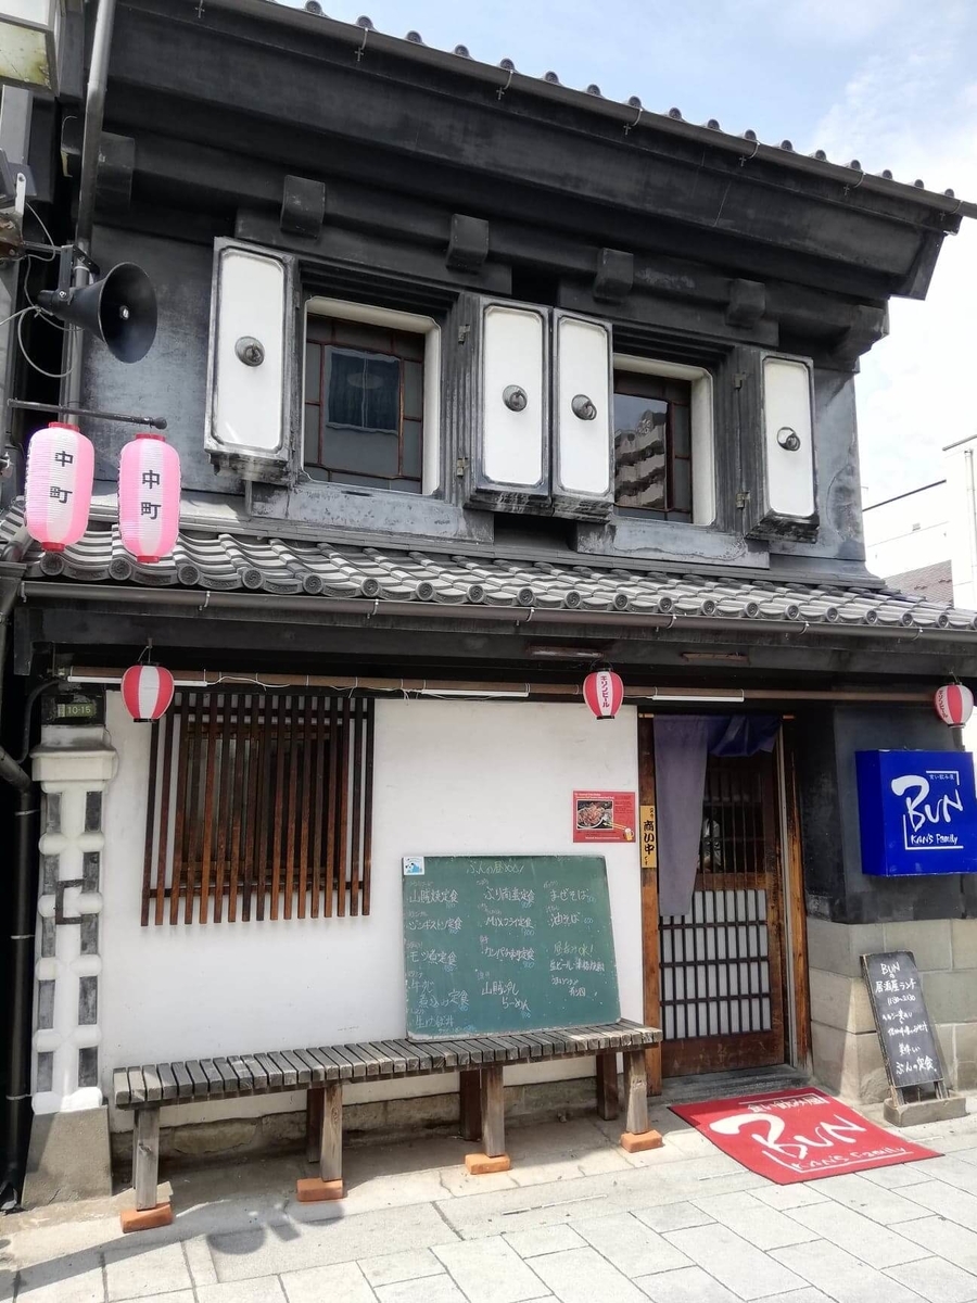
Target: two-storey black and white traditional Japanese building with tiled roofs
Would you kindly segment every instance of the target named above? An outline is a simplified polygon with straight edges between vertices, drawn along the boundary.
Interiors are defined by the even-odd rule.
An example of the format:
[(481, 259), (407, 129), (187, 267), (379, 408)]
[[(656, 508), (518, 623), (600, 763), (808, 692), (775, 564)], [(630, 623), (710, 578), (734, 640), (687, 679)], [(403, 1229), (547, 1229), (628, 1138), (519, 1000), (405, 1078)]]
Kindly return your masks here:
[[(933, 694), (977, 672), (977, 615), (866, 569), (855, 412), (888, 300), (977, 207), (318, 8), (115, 20), (91, 255), (149, 275), (155, 343), (86, 337), (83, 538), (42, 551), (22, 480), (0, 517), (3, 737), (43, 794), (31, 1179), (104, 1182), (116, 1067), (403, 1036), (404, 857), (569, 853), (574, 794), (638, 812), (601, 851), (655, 1091), (783, 1066), (881, 1098), (860, 955), (887, 949), (977, 1088), (977, 855), (862, 872), (855, 760), (955, 752)], [(72, 48), (30, 155), (69, 244)], [(106, 413), (180, 455), (158, 562), (119, 533), (141, 426)], [(46, 420), (17, 410), (16, 474)], [(119, 691), (139, 662), (176, 679), (154, 723)], [(505, 1080), (525, 1111), (593, 1089), (578, 1061)], [(363, 1083), (348, 1127), (446, 1123), (449, 1091)], [(164, 1110), (164, 1165), (297, 1138), (300, 1108)]]

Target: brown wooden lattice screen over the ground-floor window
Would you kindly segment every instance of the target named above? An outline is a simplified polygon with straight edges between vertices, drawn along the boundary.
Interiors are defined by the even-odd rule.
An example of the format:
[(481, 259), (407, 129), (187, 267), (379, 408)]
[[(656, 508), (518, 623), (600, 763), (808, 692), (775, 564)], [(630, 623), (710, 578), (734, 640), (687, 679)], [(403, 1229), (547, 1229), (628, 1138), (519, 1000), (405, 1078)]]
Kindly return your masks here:
[(152, 724), (142, 924), (370, 912), (373, 701), (180, 692)]

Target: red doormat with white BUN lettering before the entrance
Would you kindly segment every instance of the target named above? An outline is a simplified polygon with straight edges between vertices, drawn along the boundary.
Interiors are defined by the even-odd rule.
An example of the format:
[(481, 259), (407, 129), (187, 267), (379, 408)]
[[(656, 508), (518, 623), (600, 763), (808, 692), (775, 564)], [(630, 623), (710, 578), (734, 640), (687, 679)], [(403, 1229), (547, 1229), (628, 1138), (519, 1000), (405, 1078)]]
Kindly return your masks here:
[(774, 1091), (670, 1108), (723, 1153), (778, 1186), (939, 1157), (883, 1131), (823, 1091)]

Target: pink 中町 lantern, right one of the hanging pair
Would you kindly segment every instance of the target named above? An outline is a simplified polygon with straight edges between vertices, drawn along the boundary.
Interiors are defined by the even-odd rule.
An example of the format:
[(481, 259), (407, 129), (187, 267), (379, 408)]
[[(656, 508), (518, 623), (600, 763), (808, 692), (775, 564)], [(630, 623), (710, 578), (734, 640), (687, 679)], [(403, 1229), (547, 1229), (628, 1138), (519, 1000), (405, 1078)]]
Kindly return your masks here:
[(180, 453), (162, 434), (137, 434), (119, 460), (119, 536), (137, 562), (173, 551), (180, 530)]

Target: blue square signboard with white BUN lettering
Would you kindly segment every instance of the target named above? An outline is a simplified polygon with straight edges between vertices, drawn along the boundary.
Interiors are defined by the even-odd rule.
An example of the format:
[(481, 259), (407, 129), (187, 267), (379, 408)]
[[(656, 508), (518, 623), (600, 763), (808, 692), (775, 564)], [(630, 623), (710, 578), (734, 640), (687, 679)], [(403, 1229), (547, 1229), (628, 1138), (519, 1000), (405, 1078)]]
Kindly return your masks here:
[(977, 873), (977, 792), (965, 751), (860, 751), (862, 873)]

